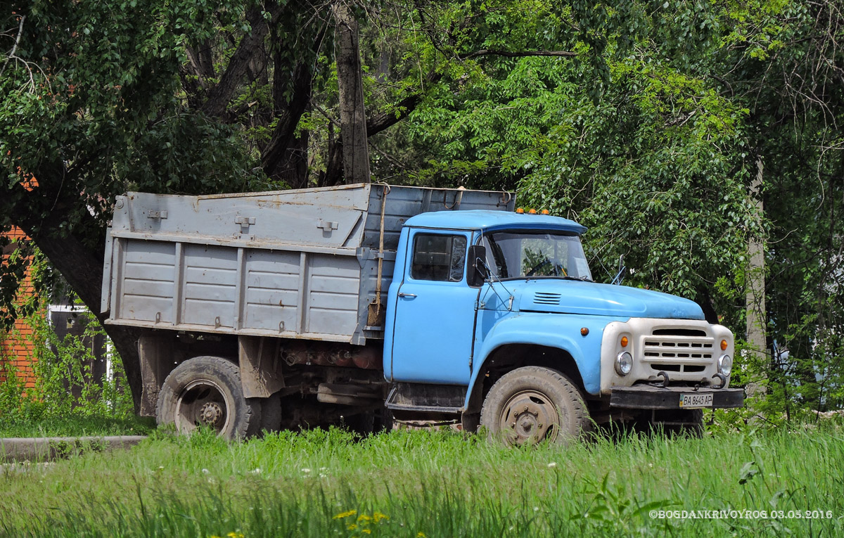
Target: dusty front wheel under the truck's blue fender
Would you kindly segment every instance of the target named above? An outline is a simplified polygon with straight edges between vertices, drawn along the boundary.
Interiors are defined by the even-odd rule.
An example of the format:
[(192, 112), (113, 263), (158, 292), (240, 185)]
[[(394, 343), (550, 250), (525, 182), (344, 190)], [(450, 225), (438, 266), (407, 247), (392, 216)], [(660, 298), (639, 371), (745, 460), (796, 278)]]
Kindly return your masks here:
[(480, 423), (491, 440), (508, 446), (566, 444), (592, 428), (576, 385), (538, 366), (515, 369), (496, 381), (484, 399)]

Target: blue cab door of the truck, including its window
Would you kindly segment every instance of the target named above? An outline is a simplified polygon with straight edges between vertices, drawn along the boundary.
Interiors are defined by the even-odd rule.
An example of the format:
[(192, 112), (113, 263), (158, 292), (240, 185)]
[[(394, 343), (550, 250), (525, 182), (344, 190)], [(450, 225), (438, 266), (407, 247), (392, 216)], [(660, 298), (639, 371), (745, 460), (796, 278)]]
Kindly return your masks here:
[(475, 300), (466, 283), (469, 232), (411, 229), (398, 288), (392, 379), (468, 385)]

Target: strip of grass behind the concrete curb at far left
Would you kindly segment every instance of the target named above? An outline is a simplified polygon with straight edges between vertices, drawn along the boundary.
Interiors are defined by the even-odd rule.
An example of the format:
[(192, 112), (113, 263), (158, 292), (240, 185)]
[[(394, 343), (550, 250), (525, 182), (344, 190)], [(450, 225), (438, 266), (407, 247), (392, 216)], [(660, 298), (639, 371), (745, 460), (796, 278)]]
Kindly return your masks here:
[(0, 438), (149, 435), (154, 429), (155, 419), (149, 417), (51, 417), (37, 421), (9, 420), (0, 417)]

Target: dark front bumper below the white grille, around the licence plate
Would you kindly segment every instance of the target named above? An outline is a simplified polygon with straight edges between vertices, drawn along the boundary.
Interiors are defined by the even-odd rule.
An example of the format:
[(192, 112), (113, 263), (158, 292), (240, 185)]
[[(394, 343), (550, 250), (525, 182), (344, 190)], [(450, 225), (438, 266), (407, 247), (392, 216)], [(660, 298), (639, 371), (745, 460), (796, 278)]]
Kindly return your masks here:
[(720, 407), (743, 407), (744, 389), (709, 389), (690, 387), (655, 387), (636, 385), (613, 387), (609, 393), (610, 407), (627, 409), (681, 409), (681, 394), (712, 394), (710, 409)]

